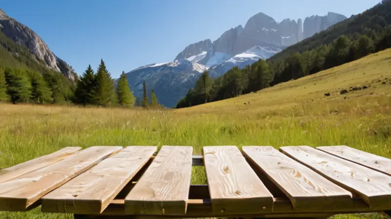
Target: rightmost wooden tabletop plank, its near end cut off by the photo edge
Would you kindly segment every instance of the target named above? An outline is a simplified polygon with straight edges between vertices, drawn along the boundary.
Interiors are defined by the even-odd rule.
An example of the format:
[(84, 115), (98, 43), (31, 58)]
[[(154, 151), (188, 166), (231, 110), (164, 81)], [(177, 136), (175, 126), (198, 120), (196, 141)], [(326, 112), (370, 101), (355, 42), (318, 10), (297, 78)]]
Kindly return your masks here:
[(391, 159), (378, 156), (372, 153), (363, 152), (348, 146), (326, 146), (317, 147), (321, 151), (330, 153), (334, 156), (344, 158), (348, 161), (369, 167), (372, 170), (383, 174), (391, 175)]

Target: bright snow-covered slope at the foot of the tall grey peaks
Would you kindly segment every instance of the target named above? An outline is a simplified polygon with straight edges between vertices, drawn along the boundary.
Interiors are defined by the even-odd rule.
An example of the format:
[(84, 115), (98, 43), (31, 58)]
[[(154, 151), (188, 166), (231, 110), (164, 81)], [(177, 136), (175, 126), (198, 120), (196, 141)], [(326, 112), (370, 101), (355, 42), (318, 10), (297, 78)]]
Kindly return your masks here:
[(210, 71), (213, 71), (216, 75), (222, 75), (234, 66), (244, 68), (247, 65), (252, 65), (260, 59), (266, 60), (278, 52), (281, 52), (279, 47), (261, 47), (256, 45), (246, 50), (245, 52), (235, 55), (234, 57), (222, 62), (217, 66), (211, 67)]

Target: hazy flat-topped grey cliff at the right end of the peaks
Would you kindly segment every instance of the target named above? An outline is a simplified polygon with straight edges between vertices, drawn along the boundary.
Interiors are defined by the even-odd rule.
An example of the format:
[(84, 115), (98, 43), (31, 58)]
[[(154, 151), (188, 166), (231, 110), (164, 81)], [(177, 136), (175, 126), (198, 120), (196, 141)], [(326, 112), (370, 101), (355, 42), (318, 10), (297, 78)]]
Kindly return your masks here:
[(304, 20), (304, 33), (303, 37), (308, 38), (312, 35), (326, 30), (328, 27), (346, 20), (347, 17), (328, 12), (326, 16), (311, 16)]

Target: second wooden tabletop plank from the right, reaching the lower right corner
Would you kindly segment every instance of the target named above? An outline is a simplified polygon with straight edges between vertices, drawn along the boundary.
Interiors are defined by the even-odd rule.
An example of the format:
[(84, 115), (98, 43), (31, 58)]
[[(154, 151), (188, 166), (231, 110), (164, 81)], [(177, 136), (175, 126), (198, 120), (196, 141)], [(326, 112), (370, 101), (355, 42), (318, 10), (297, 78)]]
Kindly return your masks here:
[(390, 207), (391, 176), (308, 146), (288, 146), (280, 150), (363, 198), (371, 207)]

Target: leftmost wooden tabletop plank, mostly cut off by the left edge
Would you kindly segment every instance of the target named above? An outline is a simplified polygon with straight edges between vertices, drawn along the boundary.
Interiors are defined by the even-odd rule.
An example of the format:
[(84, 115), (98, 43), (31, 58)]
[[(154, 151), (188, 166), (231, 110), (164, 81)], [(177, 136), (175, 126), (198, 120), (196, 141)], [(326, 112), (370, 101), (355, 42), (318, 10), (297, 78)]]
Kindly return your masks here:
[(56, 163), (57, 161), (60, 161), (81, 149), (81, 147), (66, 147), (60, 151), (44, 155), (6, 169), (1, 169), (0, 183), (31, 171), (38, 170), (45, 166), (49, 166), (50, 164)]

